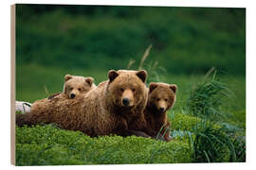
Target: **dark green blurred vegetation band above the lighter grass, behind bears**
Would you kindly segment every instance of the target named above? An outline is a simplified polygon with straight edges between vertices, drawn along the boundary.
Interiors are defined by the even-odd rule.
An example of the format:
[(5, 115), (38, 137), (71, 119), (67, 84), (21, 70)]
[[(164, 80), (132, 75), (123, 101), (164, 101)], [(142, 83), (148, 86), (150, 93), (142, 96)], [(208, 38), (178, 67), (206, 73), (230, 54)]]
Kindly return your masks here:
[(151, 61), (168, 73), (215, 66), (245, 76), (245, 16), (245, 8), (18, 5), (17, 63), (86, 71), (123, 69), (135, 59), (135, 69), (153, 44)]

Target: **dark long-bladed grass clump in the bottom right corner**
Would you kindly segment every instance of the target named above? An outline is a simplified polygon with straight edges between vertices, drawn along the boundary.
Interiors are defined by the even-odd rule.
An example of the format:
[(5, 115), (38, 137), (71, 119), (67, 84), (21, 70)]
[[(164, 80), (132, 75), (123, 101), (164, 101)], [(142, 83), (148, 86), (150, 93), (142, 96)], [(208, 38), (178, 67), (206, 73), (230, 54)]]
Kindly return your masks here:
[[(203, 124), (202, 124), (203, 123)], [(202, 121), (201, 127), (189, 138), (195, 162), (246, 161), (246, 136), (242, 128)]]

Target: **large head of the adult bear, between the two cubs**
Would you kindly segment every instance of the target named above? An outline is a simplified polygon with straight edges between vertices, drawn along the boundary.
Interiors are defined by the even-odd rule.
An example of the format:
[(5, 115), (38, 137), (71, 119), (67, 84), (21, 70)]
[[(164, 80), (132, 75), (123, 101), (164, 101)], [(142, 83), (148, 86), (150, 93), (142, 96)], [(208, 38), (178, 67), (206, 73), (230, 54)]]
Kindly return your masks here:
[(138, 105), (146, 105), (147, 72), (145, 70), (111, 70), (108, 78), (108, 97), (115, 106), (132, 109)]

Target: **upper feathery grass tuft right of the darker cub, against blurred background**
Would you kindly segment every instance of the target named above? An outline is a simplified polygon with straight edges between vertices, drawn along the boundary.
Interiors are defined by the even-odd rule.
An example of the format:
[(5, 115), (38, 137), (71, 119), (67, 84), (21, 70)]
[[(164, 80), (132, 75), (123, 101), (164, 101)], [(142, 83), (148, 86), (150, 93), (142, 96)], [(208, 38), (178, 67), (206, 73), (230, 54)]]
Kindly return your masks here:
[(217, 70), (211, 68), (203, 81), (193, 87), (188, 99), (188, 108), (192, 115), (211, 121), (220, 120), (225, 116), (221, 106), (230, 91), (226, 84), (217, 80), (216, 74)]

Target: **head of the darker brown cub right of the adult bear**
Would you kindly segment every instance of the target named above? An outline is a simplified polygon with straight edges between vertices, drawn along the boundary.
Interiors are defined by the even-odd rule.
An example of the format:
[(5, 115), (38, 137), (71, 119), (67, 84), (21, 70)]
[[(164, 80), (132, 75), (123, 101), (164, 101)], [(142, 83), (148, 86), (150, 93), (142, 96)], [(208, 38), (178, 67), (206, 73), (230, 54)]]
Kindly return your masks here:
[(174, 106), (177, 86), (175, 84), (155, 83), (149, 85), (148, 106), (158, 112), (165, 112)]

